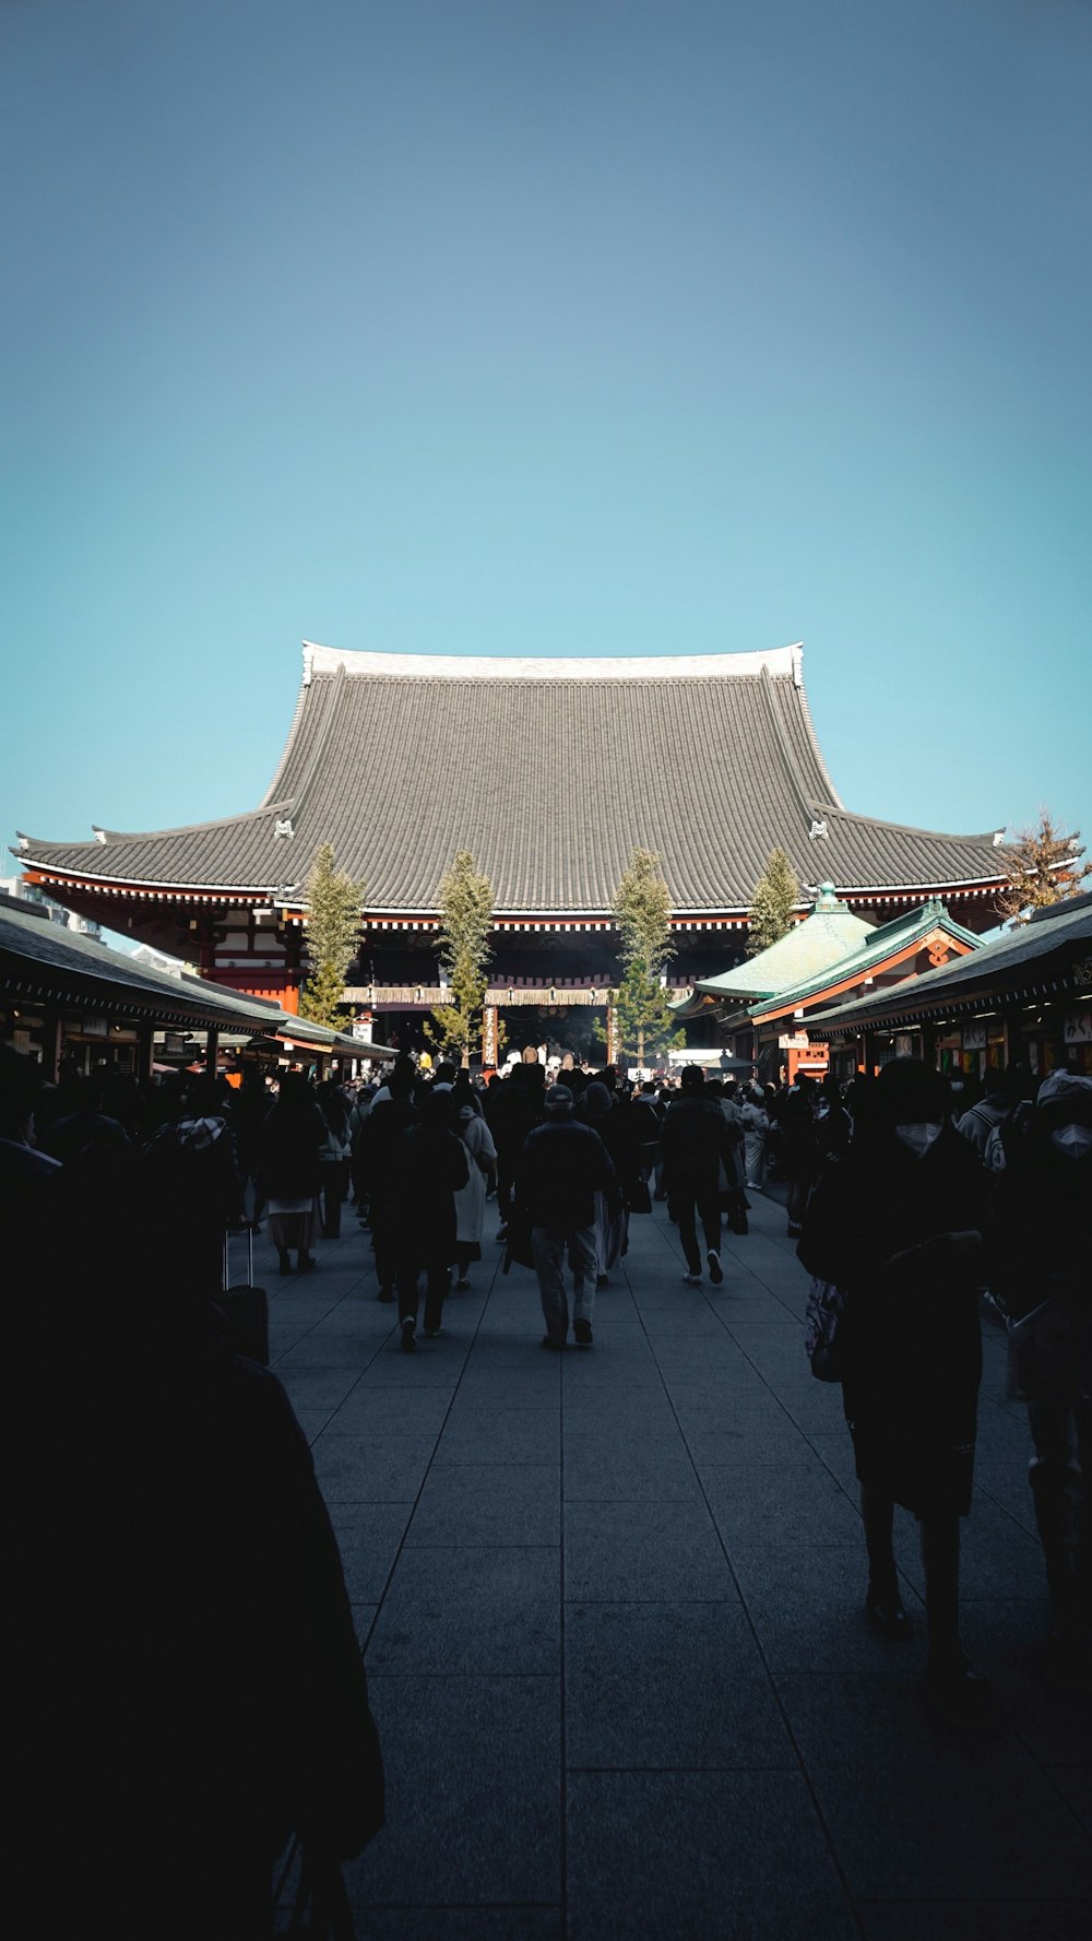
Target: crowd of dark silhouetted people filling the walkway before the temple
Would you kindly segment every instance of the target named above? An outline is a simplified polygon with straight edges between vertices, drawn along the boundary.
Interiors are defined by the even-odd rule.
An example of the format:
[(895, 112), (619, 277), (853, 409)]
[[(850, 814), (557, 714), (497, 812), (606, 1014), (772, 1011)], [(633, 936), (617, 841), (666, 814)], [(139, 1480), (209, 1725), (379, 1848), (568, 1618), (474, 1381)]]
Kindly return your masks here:
[[(27, 1477), (16, 1539), (41, 1559), (19, 1572), (8, 1840), (39, 1931), (62, 1931), (72, 1883), (81, 1896), (109, 1850), (118, 1935), (248, 1941), (268, 1933), (270, 1867), (293, 1832), (320, 1875), (382, 1825), (310, 1454), (217, 1304), (225, 1234), (266, 1219), (279, 1271), (308, 1273), (351, 1200), (378, 1300), (398, 1302), (398, 1345), (417, 1353), (419, 1324), (425, 1339), (444, 1328), (452, 1281), (471, 1285), (493, 1205), (559, 1353), (594, 1345), (595, 1295), (652, 1200), (679, 1229), (683, 1281), (708, 1271), (720, 1287), (725, 1221), (745, 1234), (749, 1196), (782, 1180), (805, 1269), (840, 1291), (869, 1623), (892, 1640), (910, 1628), (892, 1549), (904, 1506), (921, 1530), (929, 1691), (958, 1716), (989, 1710), (958, 1623), (987, 1302), (1028, 1405), (1051, 1671), (1086, 1683), (1092, 1079), (991, 1069), (974, 1093), (904, 1058), (848, 1087), (762, 1087), (698, 1066), (677, 1083), (572, 1060), (547, 1071), (533, 1052), (489, 1083), (400, 1056), (351, 1087), (291, 1069), (270, 1085), (250, 1068), (237, 1085), (182, 1073), (144, 1093), (111, 1075), (43, 1087), (4, 1052), (6, 1423)], [(163, 1743), (184, 1755), (169, 1770)], [(68, 1875), (48, 1865), (60, 1817), (78, 1828)]]

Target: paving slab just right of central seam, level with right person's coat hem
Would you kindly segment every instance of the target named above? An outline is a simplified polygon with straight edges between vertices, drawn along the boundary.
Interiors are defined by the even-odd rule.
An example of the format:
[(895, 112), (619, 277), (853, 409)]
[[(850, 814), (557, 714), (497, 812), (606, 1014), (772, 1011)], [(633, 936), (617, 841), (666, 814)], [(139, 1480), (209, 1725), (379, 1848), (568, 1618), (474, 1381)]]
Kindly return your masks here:
[(566, 1502), (564, 1594), (580, 1601), (735, 1596), (712, 1518), (683, 1502)]

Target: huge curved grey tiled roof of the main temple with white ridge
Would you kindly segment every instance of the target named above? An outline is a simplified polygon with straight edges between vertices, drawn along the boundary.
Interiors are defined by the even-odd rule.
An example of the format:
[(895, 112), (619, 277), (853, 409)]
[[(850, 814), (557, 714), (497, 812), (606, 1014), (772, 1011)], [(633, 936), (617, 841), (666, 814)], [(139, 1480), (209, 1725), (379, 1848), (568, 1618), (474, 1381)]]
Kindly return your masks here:
[(390, 914), (433, 912), (456, 848), (514, 916), (607, 912), (638, 844), (659, 852), (679, 916), (745, 912), (776, 844), (805, 889), (830, 877), (844, 897), (1005, 877), (993, 835), (904, 829), (838, 802), (799, 646), (551, 662), (305, 646), (262, 807), (93, 842), (23, 839), (21, 860), (299, 901), (320, 842)]

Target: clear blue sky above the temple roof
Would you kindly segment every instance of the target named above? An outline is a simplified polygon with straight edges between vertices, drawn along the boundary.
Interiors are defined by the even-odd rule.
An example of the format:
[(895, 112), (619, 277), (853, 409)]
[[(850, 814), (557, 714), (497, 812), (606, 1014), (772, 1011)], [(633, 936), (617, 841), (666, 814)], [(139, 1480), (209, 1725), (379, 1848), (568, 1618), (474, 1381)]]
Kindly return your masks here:
[(1088, 0), (0, 43), (4, 842), (254, 807), (308, 637), (803, 639), (850, 807), (1092, 846)]

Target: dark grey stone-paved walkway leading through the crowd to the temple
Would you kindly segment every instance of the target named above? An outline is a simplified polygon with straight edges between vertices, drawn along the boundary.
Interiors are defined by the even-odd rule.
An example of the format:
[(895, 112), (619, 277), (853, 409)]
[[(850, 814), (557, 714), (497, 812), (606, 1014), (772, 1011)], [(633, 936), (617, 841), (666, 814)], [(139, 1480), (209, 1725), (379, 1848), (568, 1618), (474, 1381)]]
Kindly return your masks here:
[(989, 1731), (869, 1632), (840, 1390), (801, 1347), (807, 1279), (753, 1196), (725, 1283), (685, 1287), (632, 1221), (595, 1347), (539, 1349), (500, 1246), (446, 1332), (398, 1351), (367, 1236), (277, 1279), (273, 1366), (314, 1446), (365, 1646), (388, 1826), (347, 1869), (361, 1937), (1007, 1941), (1092, 1933), (1088, 1700), (1042, 1683), (1022, 1411), (987, 1328), (966, 1642)]

